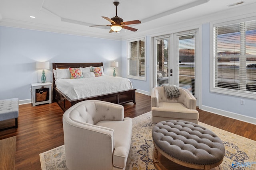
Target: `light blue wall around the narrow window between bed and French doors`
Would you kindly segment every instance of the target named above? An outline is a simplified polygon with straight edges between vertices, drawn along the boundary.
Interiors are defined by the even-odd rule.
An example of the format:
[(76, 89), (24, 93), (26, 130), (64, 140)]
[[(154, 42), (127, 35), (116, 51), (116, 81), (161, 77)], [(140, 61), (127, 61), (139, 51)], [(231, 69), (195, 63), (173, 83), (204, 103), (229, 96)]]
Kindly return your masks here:
[[(136, 40), (136, 39), (135, 39)], [(146, 36), (146, 81), (136, 80), (130, 78), (134, 88), (140, 90), (142, 93), (149, 94), (151, 91), (151, 37)], [(122, 77), (127, 76), (127, 41), (122, 41)]]

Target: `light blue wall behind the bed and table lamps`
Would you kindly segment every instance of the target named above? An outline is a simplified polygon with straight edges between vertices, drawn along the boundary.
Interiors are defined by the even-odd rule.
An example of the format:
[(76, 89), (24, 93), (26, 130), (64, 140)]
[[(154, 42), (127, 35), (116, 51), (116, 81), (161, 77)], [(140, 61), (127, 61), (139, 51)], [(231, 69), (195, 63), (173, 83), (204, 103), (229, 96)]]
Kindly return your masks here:
[[(110, 61), (121, 65), (121, 41), (0, 26), (0, 100), (31, 99), (30, 84), (40, 82), (36, 62), (49, 61), (46, 81), (52, 82), (52, 63), (103, 62), (112, 75)], [(116, 68), (117, 76), (121, 68)], [(119, 71), (120, 70), (120, 71)]]

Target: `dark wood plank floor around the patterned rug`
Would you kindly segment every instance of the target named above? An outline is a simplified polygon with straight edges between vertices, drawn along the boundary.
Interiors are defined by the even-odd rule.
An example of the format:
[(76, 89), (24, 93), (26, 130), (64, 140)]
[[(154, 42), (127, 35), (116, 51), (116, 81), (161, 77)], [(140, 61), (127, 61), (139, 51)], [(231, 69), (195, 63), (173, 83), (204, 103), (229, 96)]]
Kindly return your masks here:
[[(124, 104), (125, 117), (136, 117), (151, 110), (150, 96), (136, 93), (136, 105)], [(199, 121), (256, 141), (256, 125), (198, 110)], [(32, 107), (19, 106), (18, 129), (0, 131), (0, 139), (17, 136), (16, 170), (41, 170), (39, 154), (64, 144), (62, 114), (57, 103)], [(14, 119), (1, 121), (0, 129)]]

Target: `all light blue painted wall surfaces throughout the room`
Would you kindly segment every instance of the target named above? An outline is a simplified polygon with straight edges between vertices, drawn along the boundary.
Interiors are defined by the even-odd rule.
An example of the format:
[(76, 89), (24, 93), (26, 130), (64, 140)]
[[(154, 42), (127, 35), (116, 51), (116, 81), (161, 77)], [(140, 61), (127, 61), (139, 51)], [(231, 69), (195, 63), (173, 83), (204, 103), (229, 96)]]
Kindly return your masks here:
[[(146, 81), (132, 80), (134, 88), (150, 93), (152, 41), (146, 36)], [(117, 76), (127, 75), (127, 41), (116, 41), (0, 26), (0, 100), (29, 100), (30, 84), (40, 82), (37, 61), (49, 61), (46, 81), (52, 82), (52, 63), (103, 62), (112, 75), (110, 61), (119, 61)], [(202, 106), (256, 117), (256, 100), (210, 92), (210, 24), (202, 24)], [(245, 105), (240, 104), (245, 100)]]

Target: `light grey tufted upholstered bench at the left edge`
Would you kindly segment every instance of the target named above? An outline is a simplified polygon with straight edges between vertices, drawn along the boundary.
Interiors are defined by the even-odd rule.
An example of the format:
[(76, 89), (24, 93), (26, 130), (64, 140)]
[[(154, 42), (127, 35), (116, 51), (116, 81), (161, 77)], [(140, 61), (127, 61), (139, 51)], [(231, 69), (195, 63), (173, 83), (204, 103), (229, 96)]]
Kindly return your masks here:
[(19, 116), (18, 98), (0, 100), (0, 121), (15, 118), (15, 126), (7, 127), (0, 130), (6, 130), (14, 127), (18, 128), (18, 116)]

